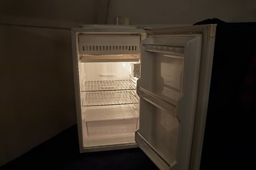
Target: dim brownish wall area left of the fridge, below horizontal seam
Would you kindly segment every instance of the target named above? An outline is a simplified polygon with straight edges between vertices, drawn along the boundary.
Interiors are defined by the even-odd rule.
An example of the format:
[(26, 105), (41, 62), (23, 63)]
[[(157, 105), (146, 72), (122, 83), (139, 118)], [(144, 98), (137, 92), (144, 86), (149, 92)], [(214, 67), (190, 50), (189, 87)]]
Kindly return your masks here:
[(69, 29), (0, 26), (0, 166), (76, 123)]

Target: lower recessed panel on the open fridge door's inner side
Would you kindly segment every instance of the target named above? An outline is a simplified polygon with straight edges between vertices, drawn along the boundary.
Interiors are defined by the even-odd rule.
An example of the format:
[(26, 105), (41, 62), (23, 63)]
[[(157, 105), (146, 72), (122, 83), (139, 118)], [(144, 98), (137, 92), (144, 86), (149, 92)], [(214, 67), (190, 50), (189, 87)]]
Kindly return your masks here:
[(178, 131), (180, 123), (174, 113), (164, 111), (144, 100), (140, 103), (140, 116), (146, 121), (140, 121), (139, 133), (143, 135), (151, 147), (156, 149), (160, 157), (168, 164), (176, 162), (178, 148)]

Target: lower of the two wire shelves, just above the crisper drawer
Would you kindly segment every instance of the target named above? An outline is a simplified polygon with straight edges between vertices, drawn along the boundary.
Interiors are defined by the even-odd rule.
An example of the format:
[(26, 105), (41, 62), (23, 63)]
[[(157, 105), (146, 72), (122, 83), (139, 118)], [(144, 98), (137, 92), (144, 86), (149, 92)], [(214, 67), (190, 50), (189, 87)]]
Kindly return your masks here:
[(82, 106), (107, 106), (139, 103), (135, 90), (86, 92)]

